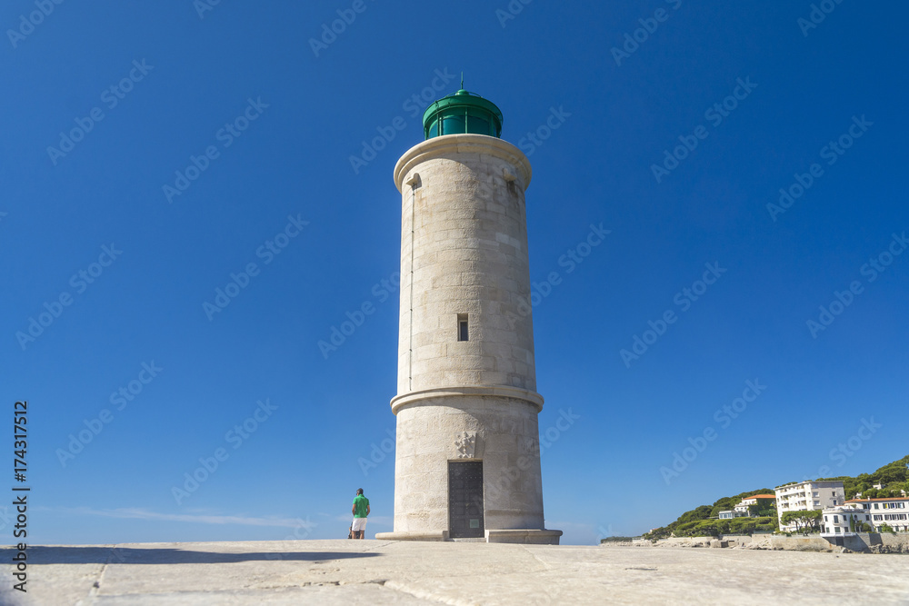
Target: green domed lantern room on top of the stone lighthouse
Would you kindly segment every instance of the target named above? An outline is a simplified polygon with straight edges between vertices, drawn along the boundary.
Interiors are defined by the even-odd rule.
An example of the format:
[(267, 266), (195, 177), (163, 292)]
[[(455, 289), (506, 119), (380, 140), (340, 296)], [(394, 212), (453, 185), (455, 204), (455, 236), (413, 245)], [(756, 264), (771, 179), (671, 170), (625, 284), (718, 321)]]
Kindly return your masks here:
[(423, 134), (427, 139), (468, 133), (502, 136), (502, 112), (492, 101), (462, 88), (426, 108)]

